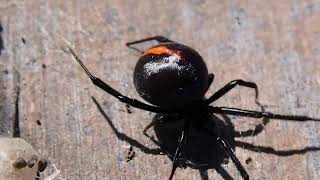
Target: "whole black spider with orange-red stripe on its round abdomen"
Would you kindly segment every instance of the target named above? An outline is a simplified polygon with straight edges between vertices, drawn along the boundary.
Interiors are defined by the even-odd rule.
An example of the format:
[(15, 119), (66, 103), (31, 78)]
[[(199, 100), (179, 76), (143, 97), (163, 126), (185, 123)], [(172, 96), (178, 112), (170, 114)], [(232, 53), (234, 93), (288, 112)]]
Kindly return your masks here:
[[(156, 40), (159, 44), (152, 46), (146, 51), (140, 51), (131, 46), (152, 40)], [(188, 142), (191, 126), (210, 134), (230, 156), (243, 179), (249, 179), (248, 173), (235, 156), (231, 146), (222, 137), (204, 126), (208, 120), (207, 117), (214, 113), (291, 121), (320, 121), (320, 119), (307, 116), (280, 115), (270, 112), (210, 106), (212, 102), (224, 96), (237, 85), (254, 89), (256, 103), (260, 105), (258, 102), (257, 84), (241, 79), (233, 80), (206, 99), (204, 98), (204, 94), (213, 82), (214, 75), (212, 73), (208, 74), (206, 64), (197, 51), (162, 36), (149, 37), (129, 42), (126, 45), (143, 54), (134, 69), (134, 85), (139, 95), (152, 105), (122, 95), (99, 78), (93, 76), (75, 52), (71, 48), (69, 48), (69, 51), (90, 77), (94, 85), (118, 98), (121, 102), (154, 113), (177, 115), (184, 120), (183, 131), (181, 132), (179, 144), (174, 154), (169, 180), (173, 178), (174, 172), (178, 167), (178, 159), (181, 156), (184, 145)], [(151, 140), (152, 137), (147, 134), (147, 130), (154, 126), (155, 123), (155, 121), (151, 122), (143, 130), (144, 135)]]

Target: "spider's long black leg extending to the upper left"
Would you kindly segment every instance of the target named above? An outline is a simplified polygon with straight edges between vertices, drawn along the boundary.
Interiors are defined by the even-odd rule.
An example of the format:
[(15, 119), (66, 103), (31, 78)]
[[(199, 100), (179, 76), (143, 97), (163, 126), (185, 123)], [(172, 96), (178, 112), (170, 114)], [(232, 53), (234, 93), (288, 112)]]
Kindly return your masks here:
[(112, 96), (116, 97), (117, 99), (119, 99), (121, 102), (123, 103), (127, 103), (132, 107), (135, 108), (139, 108), (139, 109), (143, 109), (146, 111), (150, 111), (150, 112), (155, 112), (155, 113), (172, 113), (171, 110), (168, 109), (162, 109), (160, 107), (157, 106), (152, 106), (152, 105), (148, 105), (145, 104), (141, 101), (138, 101), (136, 99), (132, 99), (129, 98), (127, 96), (122, 95), (120, 92), (118, 92), (117, 90), (113, 89), (112, 87), (110, 87), (108, 84), (106, 84), (105, 82), (103, 82), (101, 79), (93, 76), (89, 70), (84, 66), (84, 64), (82, 63), (82, 61), (79, 59), (79, 57), (76, 55), (76, 53), (69, 48), (69, 51), (71, 52), (71, 54), (74, 56), (74, 58), (76, 59), (76, 61), (81, 65), (81, 67), (83, 68), (83, 70), (86, 72), (86, 74), (89, 76), (89, 78), (91, 79), (91, 81), (93, 82), (94, 85), (98, 86), (99, 88), (101, 88), (102, 90), (106, 91), (107, 93), (111, 94)]

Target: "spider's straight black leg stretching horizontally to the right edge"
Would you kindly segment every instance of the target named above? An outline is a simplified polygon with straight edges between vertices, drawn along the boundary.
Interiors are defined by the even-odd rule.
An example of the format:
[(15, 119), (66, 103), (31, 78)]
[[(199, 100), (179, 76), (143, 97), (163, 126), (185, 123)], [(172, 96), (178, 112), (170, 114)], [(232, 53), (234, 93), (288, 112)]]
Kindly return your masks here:
[(270, 112), (250, 111), (250, 110), (228, 108), (228, 107), (209, 106), (208, 110), (210, 113), (230, 114), (230, 115), (253, 117), (253, 118), (266, 117), (270, 119), (283, 119), (283, 120), (289, 120), (289, 121), (320, 121), (320, 119), (311, 118), (308, 116), (273, 114)]

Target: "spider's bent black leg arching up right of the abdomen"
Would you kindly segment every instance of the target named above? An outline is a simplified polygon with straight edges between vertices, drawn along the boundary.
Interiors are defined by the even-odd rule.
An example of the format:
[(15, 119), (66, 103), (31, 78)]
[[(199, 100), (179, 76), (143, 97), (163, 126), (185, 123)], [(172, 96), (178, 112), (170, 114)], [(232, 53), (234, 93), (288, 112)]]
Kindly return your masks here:
[(255, 93), (256, 93), (255, 101), (256, 101), (256, 104), (261, 106), (259, 101), (258, 101), (259, 91), (258, 91), (257, 84), (254, 83), (254, 82), (248, 82), (248, 81), (244, 81), (244, 80), (241, 80), (241, 79), (237, 79), (237, 80), (233, 80), (233, 81), (229, 82), (227, 85), (225, 85), (224, 87), (219, 89), (217, 92), (215, 92), (211, 97), (209, 97), (209, 99), (206, 100), (206, 103), (207, 104), (211, 104), (213, 101), (216, 101), (217, 99), (219, 99), (220, 97), (225, 95), (227, 92), (229, 92), (231, 89), (233, 89), (237, 85), (255, 89)]

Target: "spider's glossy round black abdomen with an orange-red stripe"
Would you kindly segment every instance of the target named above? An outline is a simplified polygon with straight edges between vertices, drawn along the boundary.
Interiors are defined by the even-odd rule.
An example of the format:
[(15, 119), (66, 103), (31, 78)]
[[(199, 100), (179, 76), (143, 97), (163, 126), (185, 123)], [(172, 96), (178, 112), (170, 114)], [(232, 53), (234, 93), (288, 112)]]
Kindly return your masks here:
[(161, 107), (183, 107), (201, 100), (208, 88), (208, 70), (192, 48), (174, 42), (146, 50), (134, 70), (139, 95)]

